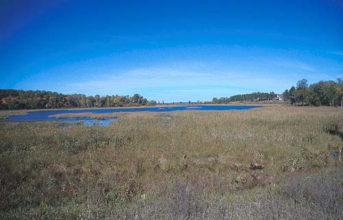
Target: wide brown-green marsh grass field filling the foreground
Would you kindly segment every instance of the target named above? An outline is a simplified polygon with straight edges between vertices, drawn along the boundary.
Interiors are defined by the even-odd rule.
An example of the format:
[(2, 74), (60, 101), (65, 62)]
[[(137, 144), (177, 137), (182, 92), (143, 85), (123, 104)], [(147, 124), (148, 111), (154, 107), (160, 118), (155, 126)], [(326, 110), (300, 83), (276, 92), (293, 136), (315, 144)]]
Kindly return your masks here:
[(0, 219), (342, 219), (339, 108), (0, 121)]

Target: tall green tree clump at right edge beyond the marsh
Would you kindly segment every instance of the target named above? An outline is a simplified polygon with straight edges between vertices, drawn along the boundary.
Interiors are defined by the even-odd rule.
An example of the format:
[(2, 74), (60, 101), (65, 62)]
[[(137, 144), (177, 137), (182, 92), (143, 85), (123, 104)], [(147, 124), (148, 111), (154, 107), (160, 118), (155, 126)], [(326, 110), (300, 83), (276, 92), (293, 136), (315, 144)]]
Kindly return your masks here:
[(283, 93), (285, 101), (296, 106), (341, 106), (343, 107), (343, 81), (320, 81), (311, 85), (299, 80)]

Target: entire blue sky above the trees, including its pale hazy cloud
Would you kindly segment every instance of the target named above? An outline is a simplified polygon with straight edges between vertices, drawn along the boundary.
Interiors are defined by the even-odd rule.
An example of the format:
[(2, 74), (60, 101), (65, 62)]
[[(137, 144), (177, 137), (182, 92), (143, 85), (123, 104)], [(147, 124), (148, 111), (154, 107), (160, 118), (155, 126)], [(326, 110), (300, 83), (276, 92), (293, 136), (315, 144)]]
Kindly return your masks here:
[(0, 1), (0, 88), (198, 101), (343, 77), (343, 1)]

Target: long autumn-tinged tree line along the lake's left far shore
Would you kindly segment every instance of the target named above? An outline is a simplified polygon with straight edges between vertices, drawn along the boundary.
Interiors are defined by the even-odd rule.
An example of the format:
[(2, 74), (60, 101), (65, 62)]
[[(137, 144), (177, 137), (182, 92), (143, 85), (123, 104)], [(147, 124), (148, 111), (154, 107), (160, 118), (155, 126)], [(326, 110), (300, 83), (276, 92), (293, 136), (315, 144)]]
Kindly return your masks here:
[(64, 95), (42, 90), (0, 89), (0, 109), (36, 109), (36, 108), (99, 108), (122, 106), (154, 106), (139, 94), (86, 96), (82, 94)]

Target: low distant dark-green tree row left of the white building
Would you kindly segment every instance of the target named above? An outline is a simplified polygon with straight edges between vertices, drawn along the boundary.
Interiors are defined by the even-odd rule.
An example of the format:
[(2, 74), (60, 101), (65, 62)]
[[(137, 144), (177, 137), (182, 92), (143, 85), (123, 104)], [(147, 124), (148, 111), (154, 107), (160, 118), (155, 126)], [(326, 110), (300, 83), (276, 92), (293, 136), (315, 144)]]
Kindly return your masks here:
[(233, 101), (263, 101), (263, 100), (272, 100), (276, 98), (276, 94), (274, 92), (270, 93), (249, 93), (243, 95), (233, 95), (231, 97), (221, 97), (221, 98), (213, 98), (212, 103), (220, 103), (226, 104)]

